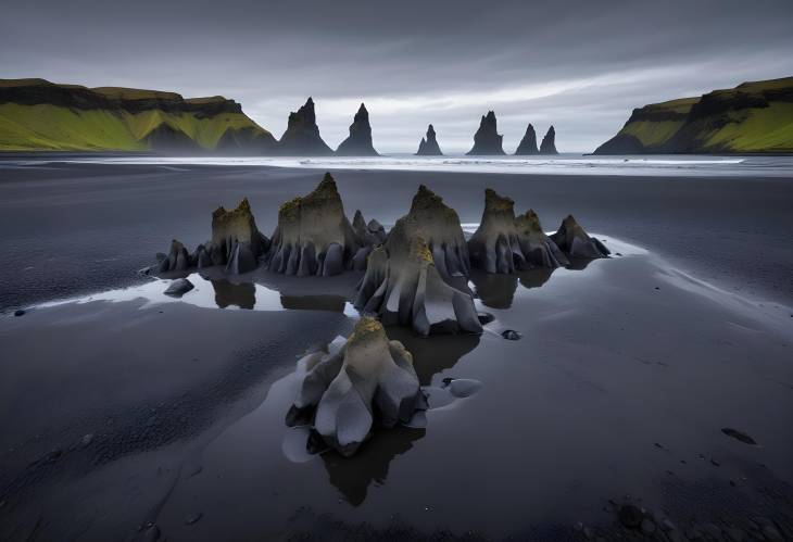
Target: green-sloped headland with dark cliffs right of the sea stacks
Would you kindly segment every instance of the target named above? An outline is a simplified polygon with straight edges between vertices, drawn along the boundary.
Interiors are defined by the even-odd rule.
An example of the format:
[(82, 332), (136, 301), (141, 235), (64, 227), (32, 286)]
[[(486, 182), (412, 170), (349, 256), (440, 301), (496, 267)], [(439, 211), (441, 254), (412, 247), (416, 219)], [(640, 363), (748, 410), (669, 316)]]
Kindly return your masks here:
[(634, 109), (594, 154), (793, 152), (793, 77)]

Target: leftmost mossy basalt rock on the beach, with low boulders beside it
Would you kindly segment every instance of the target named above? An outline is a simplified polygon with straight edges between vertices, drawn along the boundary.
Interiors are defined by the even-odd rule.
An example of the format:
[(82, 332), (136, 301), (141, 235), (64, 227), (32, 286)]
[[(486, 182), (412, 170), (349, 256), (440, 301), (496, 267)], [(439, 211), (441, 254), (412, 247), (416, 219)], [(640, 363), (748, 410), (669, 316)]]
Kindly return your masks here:
[(179, 241), (172, 241), (171, 251), (160, 262), (159, 270), (180, 272), (225, 265), (227, 273), (248, 273), (256, 268), (259, 257), (264, 255), (268, 245), (269, 240), (259, 231), (251, 204), (244, 198), (235, 210), (226, 211), (219, 206), (212, 213), (212, 240), (199, 244), (192, 254), (188, 254)]

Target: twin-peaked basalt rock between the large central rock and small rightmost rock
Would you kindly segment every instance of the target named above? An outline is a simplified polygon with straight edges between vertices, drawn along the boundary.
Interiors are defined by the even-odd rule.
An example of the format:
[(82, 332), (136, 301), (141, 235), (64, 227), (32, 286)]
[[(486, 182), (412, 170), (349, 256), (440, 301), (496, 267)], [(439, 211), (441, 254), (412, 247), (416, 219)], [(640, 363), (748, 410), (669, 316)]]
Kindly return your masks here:
[(494, 190), (484, 190), (482, 219), (468, 240), (471, 265), (488, 273), (512, 274), (566, 264), (562, 251), (539, 229), (533, 211), (515, 218), (514, 204)]

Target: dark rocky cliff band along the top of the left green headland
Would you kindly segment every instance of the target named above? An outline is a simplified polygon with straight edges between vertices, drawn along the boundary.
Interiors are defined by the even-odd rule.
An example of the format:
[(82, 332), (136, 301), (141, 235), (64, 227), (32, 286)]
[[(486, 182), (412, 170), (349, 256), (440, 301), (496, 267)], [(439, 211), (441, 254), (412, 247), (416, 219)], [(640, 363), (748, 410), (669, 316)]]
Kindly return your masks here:
[[(45, 79), (12, 83), (12, 85), (0, 85), (0, 103), (49, 104), (81, 111), (109, 110), (128, 113), (159, 110), (165, 113), (193, 113), (201, 117), (212, 117), (222, 113), (242, 113), (239, 103), (222, 96), (186, 100), (175, 92), (90, 89), (78, 85), (56, 85)], [(124, 96), (125, 90), (139, 97)]]

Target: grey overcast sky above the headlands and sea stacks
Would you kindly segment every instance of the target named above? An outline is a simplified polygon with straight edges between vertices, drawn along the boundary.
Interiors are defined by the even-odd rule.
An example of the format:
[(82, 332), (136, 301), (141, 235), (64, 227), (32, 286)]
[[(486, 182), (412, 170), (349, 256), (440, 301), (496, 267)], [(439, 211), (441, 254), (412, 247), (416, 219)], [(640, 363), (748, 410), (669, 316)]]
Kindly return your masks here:
[(444, 152), (495, 111), (591, 151), (630, 111), (793, 75), (793, 0), (3, 0), (0, 78), (223, 94), (280, 137), (314, 97), (336, 148), (361, 101), (380, 152)]

